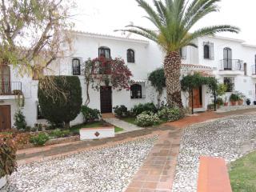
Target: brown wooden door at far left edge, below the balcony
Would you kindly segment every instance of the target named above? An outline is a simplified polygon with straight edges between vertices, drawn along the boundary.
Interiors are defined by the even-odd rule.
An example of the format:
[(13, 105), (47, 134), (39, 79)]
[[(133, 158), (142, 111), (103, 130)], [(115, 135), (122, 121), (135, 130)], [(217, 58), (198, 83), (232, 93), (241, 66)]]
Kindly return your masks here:
[(10, 128), (10, 106), (0, 106), (0, 131)]

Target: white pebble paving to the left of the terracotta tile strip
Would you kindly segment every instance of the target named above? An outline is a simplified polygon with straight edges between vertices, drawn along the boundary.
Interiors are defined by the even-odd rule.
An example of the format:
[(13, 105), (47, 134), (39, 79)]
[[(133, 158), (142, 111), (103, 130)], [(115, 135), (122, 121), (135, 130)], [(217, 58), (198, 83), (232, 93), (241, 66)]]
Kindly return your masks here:
[(19, 166), (0, 192), (123, 191), (157, 139), (142, 138)]

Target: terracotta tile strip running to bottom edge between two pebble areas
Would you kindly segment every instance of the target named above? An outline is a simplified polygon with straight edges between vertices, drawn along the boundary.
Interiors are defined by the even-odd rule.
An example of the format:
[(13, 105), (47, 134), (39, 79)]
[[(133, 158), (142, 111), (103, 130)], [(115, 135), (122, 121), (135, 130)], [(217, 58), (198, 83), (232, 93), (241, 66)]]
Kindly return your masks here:
[(126, 192), (170, 192), (180, 146), (181, 130), (159, 135), (146, 161), (130, 182)]

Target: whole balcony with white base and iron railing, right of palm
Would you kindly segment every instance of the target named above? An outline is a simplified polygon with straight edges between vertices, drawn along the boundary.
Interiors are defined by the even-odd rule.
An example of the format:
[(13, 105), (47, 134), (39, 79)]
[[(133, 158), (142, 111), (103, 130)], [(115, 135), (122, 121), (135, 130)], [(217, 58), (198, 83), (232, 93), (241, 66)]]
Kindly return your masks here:
[(222, 59), (220, 61), (220, 75), (244, 74), (243, 62), (240, 59)]

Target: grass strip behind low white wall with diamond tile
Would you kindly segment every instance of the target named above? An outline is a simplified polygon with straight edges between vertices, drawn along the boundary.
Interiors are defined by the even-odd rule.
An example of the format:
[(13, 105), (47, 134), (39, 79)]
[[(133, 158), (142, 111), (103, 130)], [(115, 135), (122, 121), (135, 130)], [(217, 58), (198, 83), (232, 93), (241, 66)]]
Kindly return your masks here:
[[(79, 130), (82, 128), (95, 128), (95, 127), (104, 127), (104, 126), (112, 126), (107, 122), (100, 121), (100, 122), (90, 122), (90, 123), (85, 123), (85, 124), (80, 124), (77, 126), (71, 126), (70, 131), (73, 132), (74, 134), (79, 134)], [(117, 126), (114, 126), (114, 132), (118, 133), (122, 131), (123, 129)]]

